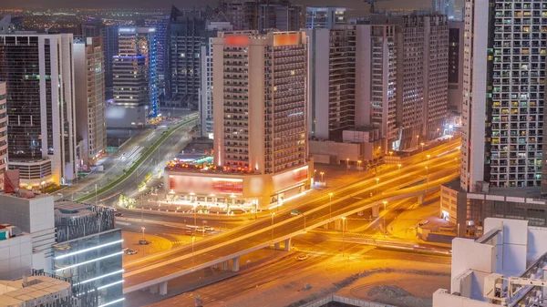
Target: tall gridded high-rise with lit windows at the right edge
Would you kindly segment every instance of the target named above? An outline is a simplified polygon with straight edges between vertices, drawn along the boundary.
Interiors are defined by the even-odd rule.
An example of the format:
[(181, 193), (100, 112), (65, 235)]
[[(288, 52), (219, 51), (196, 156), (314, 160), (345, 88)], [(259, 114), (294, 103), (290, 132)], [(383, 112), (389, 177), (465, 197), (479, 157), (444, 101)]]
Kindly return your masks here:
[(540, 186), (547, 4), (465, 5), (461, 188)]

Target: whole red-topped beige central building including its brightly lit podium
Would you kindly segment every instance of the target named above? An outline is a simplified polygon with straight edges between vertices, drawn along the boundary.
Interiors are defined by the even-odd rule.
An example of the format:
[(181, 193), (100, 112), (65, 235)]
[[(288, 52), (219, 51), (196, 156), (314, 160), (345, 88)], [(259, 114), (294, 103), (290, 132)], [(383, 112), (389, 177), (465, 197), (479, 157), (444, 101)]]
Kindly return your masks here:
[(171, 163), (170, 190), (263, 207), (309, 189), (304, 32), (221, 33), (212, 46), (213, 162)]

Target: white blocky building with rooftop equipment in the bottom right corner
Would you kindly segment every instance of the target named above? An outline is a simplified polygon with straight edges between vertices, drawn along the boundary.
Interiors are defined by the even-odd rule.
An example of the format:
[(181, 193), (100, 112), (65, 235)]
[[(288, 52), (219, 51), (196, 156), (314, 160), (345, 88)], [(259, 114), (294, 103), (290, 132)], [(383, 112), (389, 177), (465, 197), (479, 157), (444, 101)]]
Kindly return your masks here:
[(527, 220), (488, 218), (477, 240), (452, 240), (450, 289), (433, 307), (544, 306), (547, 228)]

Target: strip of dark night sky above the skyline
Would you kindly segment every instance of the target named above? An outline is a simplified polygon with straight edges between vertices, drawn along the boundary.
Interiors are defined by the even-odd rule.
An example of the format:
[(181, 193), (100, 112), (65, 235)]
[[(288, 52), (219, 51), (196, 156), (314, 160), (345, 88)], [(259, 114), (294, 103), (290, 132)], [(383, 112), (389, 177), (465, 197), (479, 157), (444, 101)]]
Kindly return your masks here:
[[(462, 2), (456, 0), (457, 4)], [(296, 0), (303, 5), (341, 5), (355, 8), (350, 15), (360, 15), (367, 5), (362, 0)], [(191, 5), (215, 5), (218, 0), (0, 0), (0, 8), (102, 8), (102, 7), (169, 7), (176, 5), (188, 7)], [(430, 0), (387, 0), (377, 3), (377, 8), (419, 8), (429, 7)]]

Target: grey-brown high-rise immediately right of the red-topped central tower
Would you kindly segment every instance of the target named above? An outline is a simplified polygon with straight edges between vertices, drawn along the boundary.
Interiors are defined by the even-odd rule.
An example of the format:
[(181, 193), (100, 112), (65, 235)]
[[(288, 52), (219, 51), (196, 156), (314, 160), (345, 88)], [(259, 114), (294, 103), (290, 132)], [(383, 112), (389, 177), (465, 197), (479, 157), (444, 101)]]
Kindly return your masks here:
[[(334, 26), (306, 29), (310, 49), (309, 105), (311, 137), (342, 138), (342, 131), (355, 128), (357, 40), (366, 35), (365, 26)], [(359, 36), (359, 39), (357, 39)], [(360, 77), (360, 75), (359, 75)]]

